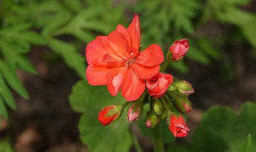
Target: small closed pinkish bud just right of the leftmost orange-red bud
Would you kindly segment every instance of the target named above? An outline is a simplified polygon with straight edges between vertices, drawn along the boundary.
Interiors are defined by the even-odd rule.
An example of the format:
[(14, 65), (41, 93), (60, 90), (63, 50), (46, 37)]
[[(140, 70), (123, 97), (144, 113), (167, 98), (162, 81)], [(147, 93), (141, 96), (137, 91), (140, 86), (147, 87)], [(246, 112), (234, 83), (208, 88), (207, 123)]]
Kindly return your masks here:
[(139, 117), (141, 116), (142, 112), (143, 112), (143, 106), (141, 106), (137, 102), (134, 102), (128, 108), (128, 112), (127, 112), (128, 120), (129, 121), (137, 121), (137, 119), (139, 119)]

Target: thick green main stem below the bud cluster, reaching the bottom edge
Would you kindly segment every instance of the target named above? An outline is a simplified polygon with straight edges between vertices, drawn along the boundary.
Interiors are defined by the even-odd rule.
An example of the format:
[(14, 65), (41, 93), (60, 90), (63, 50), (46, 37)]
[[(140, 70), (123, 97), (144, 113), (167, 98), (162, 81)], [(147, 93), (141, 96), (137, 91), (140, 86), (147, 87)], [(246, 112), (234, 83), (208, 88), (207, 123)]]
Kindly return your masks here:
[(160, 124), (153, 128), (154, 152), (164, 152), (164, 143), (162, 139), (162, 128)]

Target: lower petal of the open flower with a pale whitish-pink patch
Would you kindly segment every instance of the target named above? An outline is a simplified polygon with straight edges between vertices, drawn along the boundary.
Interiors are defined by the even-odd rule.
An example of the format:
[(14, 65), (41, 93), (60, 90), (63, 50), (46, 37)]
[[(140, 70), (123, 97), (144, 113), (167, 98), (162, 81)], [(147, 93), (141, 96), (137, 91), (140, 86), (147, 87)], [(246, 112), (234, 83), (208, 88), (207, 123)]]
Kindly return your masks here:
[(108, 72), (107, 86), (111, 95), (116, 96), (119, 92), (121, 86), (123, 85), (126, 72), (126, 68), (116, 68), (115, 70)]

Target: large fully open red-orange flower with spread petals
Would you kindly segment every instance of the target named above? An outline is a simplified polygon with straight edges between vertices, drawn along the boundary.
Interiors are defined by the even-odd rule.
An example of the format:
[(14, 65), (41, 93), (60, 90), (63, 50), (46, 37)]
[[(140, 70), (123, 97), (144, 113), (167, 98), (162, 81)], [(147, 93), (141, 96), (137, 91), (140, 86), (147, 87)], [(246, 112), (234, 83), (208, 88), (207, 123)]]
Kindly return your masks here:
[(156, 75), (164, 61), (156, 44), (139, 52), (140, 37), (139, 17), (135, 14), (127, 29), (118, 25), (108, 36), (90, 42), (86, 47), (89, 84), (107, 85), (113, 96), (121, 89), (126, 100), (137, 100), (145, 90), (145, 80)]

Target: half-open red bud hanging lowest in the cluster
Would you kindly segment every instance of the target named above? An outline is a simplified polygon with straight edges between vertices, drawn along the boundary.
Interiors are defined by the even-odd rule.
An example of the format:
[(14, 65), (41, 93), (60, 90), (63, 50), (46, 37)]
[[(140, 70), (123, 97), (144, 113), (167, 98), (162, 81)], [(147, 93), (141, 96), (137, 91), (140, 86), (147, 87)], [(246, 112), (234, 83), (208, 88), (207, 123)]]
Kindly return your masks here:
[(181, 115), (179, 115), (178, 118), (171, 115), (168, 128), (174, 137), (186, 137), (187, 133), (190, 131)]

